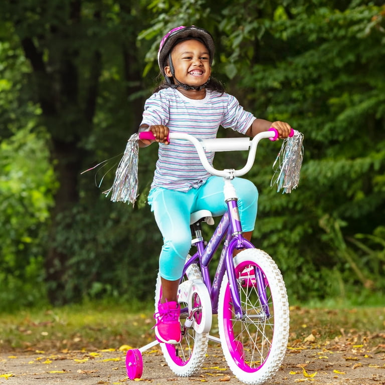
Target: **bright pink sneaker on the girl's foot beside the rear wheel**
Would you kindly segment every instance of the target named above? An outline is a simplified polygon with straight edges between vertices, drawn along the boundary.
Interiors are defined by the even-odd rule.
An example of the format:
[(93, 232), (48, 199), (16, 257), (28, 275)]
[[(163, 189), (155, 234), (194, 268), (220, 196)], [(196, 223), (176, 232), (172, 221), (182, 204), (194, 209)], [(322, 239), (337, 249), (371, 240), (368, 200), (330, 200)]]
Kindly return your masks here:
[(158, 312), (154, 314), (154, 328), (159, 342), (176, 344), (181, 341), (179, 314), (180, 307), (175, 301), (158, 304)]

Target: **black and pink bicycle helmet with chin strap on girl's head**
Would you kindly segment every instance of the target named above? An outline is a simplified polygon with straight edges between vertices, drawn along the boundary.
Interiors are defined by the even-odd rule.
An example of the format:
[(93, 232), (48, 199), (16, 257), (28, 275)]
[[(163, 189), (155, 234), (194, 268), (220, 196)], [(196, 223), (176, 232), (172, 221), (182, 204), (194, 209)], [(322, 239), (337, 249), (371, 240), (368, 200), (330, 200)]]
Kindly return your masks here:
[[(195, 26), (176, 27), (176, 28), (173, 28), (171, 31), (167, 32), (167, 34), (163, 36), (159, 45), (158, 65), (159, 65), (161, 74), (164, 76), (166, 82), (170, 84), (171, 87), (174, 87), (174, 88), (183, 87), (186, 90), (189, 90), (189, 89), (200, 90), (207, 85), (210, 79), (202, 86), (195, 87), (195, 86), (189, 86), (187, 84), (180, 83), (177, 79), (175, 79), (175, 76), (174, 76), (174, 69), (173, 69), (172, 60), (171, 60), (171, 50), (176, 44), (189, 39), (198, 40), (207, 47), (210, 54), (210, 66), (211, 66), (213, 64), (214, 52), (215, 52), (213, 37), (208, 31)], [(166, 76), (164, 72), (166, 59), (168, 59), (169, 61), (170, 70), (176, 84), (171, 84), (171, 79), (168, 76)]]

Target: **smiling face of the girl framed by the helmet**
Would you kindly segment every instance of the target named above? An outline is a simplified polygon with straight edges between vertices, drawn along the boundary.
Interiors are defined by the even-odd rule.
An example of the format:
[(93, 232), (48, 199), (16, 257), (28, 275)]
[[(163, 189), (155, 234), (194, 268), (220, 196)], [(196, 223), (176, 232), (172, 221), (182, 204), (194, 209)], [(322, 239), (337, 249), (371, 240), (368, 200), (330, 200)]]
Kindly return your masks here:
[[(185, 40), (177, 44), (171, 51), (175, 78), (189, 86), (205, 84), (211, 75), (209, 50), (198, 40)], [(164, 72), (171, 77), (170, 67)]]

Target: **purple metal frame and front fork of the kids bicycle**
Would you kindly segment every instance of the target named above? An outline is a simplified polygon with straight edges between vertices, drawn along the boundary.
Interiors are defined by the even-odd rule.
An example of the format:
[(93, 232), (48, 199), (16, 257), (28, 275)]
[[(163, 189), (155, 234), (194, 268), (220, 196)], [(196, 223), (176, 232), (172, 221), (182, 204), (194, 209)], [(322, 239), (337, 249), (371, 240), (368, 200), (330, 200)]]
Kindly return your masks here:
[[(209, 290), (213, 314), (217, 314), (219, 290), (226, 271), (230, 282), (230, 291), (231, 297), (233, 299), (235, 317), (237, 319), (242, 319), (243, 312), (234, 270), (233, 251), (237, 248), (254, 249), (255, 247), (251, 242), (243, 237), (237, 200), (229, 200), (227, 202), (227, 206), (228, 210), (221, 218), (221, 221), (219, 222), (207, 246), (205, 247), (203, 240), (200, 240), (196, 243), (198, 251), (193, 256), (191, 256), (191, 258), (184, 265), (183, 274), (191, 264), (197, 263), (197, 261), (200, 260), (202, 279)], [(214, 257), (215, 252), (218, 250), (225, 237), (226, 239), (222, 249), (221, 257), (218, 262), (213, 283), (211, 283), (209, 265)], [(269, 316), (269, 307), (267, 304), (264, 278), (262, 272), (259, 269), (255, 273), (262, 306), (266, 312), (266, 315)]]

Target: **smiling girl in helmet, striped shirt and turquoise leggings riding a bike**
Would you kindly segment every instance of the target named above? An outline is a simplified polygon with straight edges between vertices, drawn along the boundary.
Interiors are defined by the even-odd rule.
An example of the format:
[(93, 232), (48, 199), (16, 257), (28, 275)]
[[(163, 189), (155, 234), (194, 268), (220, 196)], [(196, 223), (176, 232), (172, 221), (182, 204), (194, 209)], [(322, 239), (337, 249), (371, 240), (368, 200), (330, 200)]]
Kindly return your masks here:
[[(256, 118), (225, 92), (211, 77), (214, 42), (201, 28), (177, 27), (161, 40), (158, 64), (164, 81), (144, 106), (139, 131), (151, 131), (159, 143), (158, 160), (148, 203), (163, 236), (159, 256), (162, 295), (154, 314), (158, 341), (181, 340), (177, 290), (186, 255), (191, 246), (190, 214), (201, 209), (213, 215), (227, 210), (223, 178), (213, 176), (202, 166), (191, 143), (168, 142), (169, 133), (188, 133), (198, 139), (217, 136), (220, 126), (254, 137), (274, 127), (280, 138), (291, 132), (288, 123)], [(139, 147), (152, 143), (140, 140)], [(208, 156), (212, 163), (214, 153)], [(244, 237), (251, 239), (257, 216), (258, 191), (252, 182), (236, 177), (239, 211)]]

